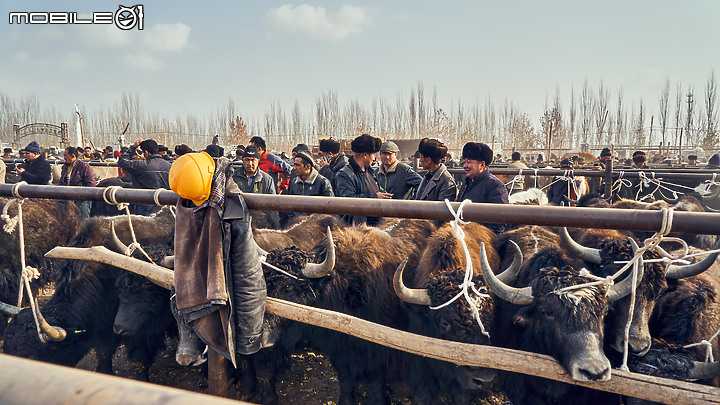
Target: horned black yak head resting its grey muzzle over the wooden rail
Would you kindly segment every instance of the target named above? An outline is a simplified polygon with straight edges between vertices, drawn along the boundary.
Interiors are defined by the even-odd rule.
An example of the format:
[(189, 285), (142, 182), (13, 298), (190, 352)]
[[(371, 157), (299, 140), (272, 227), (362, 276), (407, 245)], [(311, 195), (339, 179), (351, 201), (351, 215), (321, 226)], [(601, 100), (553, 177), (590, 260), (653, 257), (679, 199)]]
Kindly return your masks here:
[[(550, 265), (554, 257), (561, 255), (554, 249), (545, 249), (533, 257), (540, 267), (523, 266), (521, 270), (530, 273), (520, 275), (530, 280), (529, 285), (511, 287), (495, 276), (487, 262), (485, 246), (481, 249), (483, 275), (491, 291), (499, 299), (515, 304), (495, 304), (507, 311), (496, 318), (512, 319), (512, 323), (503, 324), (509, 321), (500, 320), (503, 330), (496, 327), (498, 322), (493, 323), (494, 339), (513, 340), (517, 342), (514, 348), (553, 356), (575, 380), (610, 379), (610, 361), (603, 352), (603, 318), (608, 300), (627, 295), (632, 279), (610, 287), (607, 296), (600, 285), (566, 289), (592, 280), (580, 276), (571, 266)], [(542, 256), (551, 257), (540, 260)]]

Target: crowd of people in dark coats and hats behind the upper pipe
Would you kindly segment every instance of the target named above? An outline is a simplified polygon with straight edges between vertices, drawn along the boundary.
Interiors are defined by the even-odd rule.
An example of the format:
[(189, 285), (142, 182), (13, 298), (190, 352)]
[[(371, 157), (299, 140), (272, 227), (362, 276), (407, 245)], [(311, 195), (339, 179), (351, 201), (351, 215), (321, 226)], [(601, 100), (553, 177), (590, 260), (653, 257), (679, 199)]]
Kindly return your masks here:
[[(505, 182), (490, 173), (488, 167), (501, 161), (502, 156), (494, 154), (488, 145), (480, 142), (466, 143), (460, 161), (455, 162), (440, 140), (424, 138), (419, 141), (414, 155), (415, 167), (398, 159), (400, 149), (394, 142), (383, 142), (369, 134), (353, 139), (351, 153), (347, 155), (340, 146), (340, 142), (332, 138), (322, 139), (318, 156), (313, 156), (307, 145), (298, 144), (290, 157), (285, 153), (272, 152), (262, 137), (254, 136), (248, 145), (238, 145), (234, 156), (226, 155), (224, 148), (216, 142), (208, 145), (203, 152), (214, 159), (233, 159), (237, 164), (231, 177), (244, 193), (508, 204), (509, 195), (538, 186), (537, 177), (518, 175)], [(12, 149), (6, 148), (3, 158), (14, 158), (12, 152)], [(193, 150), (185, 144), (177, 145), (171, 151), (152, 139), (138, 140), (120, 150), (114, 150), (112, 146), (100, 151), (90, 147), (67, 147), (62, 152), (65, 164), (56, 183), (96, 186), (88, 161), (99, 160), (117, 162), (120, 176), (134, 188), (169, 189), (168, 176), (173, 162), (188, 153), (193, 153)], [(46, 154), (50, 157), (46, 158)], [(5, 164), (0, 161), (0, 181), (49, 184), (51, 168), (48, 159), (53, 154), (59, 152), (54, 148), (43, 151), (37, 142), (30, 142), (20, 151), (19, 157), (25, 160), (24, 164), (6, 172)], [(636, 151), (631, 159), (623, 162), (605, 148), (593, 163), (605, 167), (613, 159), (617, 165), (623, 163), (629, 169), (646, 168), (648, 160), (645, 152)], [(568, 173), (583, 164), (582, 156), (559, 161), (559, 167), (568, 170)], [(698, 164), (697, 156), (688, 157), (688, 165)], [(448, 166), (461, 166), (465, 172), (464, 179), (456, 181)], [(542, 154), (537, 156), (534, 164), (529, 164), (519, 152), (512, 153), (507, 165), (518, 170), (547, 166)], [(713, 155), (706, 167), (719, 168), (720, 154)], [(423, 170), (423, 175), (418, 173), (419, 169)], [(533, 181), (528, 181), (530, 178)], [(556, 205), (570, 204), (589, 190), (587, 179), (570, 174), (557, 176), (542, 185), (547, 186), (549, 202)], [(89, 202), (79, 202), (78, 207), (81, 217), (89, 216)], [(135, 205), (134, 213), (145, 215), (152, 208), (151, 205)], [(290, 213), (284, 219), (298, 215), (302, 213)], [(344, 219), (350, 224), (374, 225), (379, 222), (379, 218), (362, 216), (345, 216)], [(496, 232), (503, 230), (502, 225), (486, 225)]]

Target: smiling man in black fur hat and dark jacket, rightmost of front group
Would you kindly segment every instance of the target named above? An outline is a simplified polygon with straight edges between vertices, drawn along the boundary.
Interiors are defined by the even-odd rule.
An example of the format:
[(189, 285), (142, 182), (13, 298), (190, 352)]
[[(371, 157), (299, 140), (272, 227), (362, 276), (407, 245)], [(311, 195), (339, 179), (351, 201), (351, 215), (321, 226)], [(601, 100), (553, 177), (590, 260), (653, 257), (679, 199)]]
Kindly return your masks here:
[[(493, 152), (489, 146), (480, 142), (468, 142), (463, 146), (462, 159), (466, 178), (460, 188), (457, 201), (509, 204), (505, 184), (488, 170), (493, 159)], [(504, 224), (483, 225), (495, 233), (500, 233), (505, 229)]]

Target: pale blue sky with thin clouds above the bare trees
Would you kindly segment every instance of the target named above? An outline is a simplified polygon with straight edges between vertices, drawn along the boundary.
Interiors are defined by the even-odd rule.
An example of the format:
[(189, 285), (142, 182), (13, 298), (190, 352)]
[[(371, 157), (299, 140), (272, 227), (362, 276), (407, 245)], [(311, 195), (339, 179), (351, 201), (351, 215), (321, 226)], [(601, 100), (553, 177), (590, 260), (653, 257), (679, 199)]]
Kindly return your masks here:
[[(422, 82), (439, 107), (500, 104), (533, 122), (556, 91), (588, 80), (610, 100), (657, 110), (665, 81), (701, 100), (720, 66), (720, 1), (146, 1), (143, 30), (10, 24), (11, 12), (115, 12), (106, 1), (0, 3), (0, 93), (44, 108), (100, 110), (137, 93), (162, 116), (209, 116), (232, 99), (246, 117), (271, 103), (311, 111), (329, 90), (408, 99)], [(130, 3), (124, 4), (131, 6)], [(42, 18), (42, 17), (38, 17)], [(716, 72), (720, 74), (720, 72)], [(674, 95), (671, 95), (671, 100)]]

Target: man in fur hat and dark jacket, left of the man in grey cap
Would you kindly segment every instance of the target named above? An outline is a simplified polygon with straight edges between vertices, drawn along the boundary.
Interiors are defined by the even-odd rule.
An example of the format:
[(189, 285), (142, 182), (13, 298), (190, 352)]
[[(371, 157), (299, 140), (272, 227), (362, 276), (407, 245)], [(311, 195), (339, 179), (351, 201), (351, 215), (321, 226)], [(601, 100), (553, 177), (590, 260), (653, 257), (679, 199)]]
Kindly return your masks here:
[[(345, 165), (337, 173), (335, 178), (338, 197), (355, 198), (381, 198), (390, 199), (392, 194), (386, 193), (377, 182), (375, 172), (370, 168), (373, 157), (380, 150), (382, 141), (380, 138), (362, 134), (353, 139), (350, 147), (353, 156), (348, 159)], [(344, 215), (343, 219), (348, 224), (377, 225), (380, 218)]]

